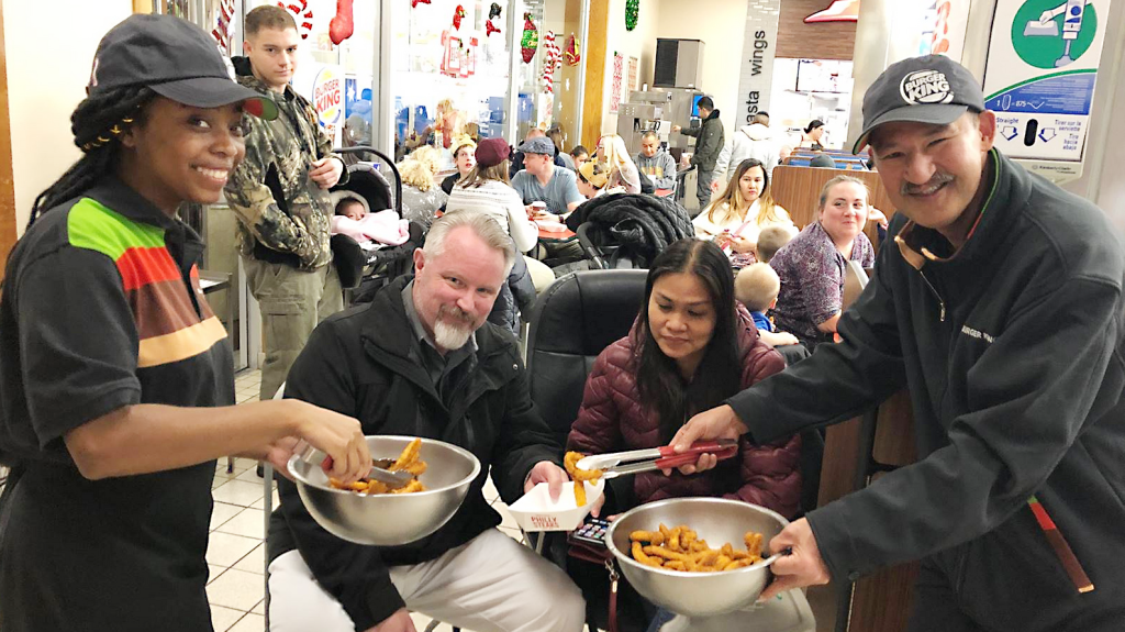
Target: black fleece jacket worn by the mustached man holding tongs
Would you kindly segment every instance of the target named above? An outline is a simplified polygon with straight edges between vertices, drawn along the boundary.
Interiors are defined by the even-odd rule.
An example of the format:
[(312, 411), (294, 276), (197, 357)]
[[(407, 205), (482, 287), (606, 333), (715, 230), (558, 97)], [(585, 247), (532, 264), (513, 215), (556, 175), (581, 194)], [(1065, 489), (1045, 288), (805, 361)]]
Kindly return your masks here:
[[(1011, 612), (1029, 619), (1000, 629), (1036, 629), (1052, 611), (1061, 630), (1125, 608), (1125, 249), (1090, 202), (997, 151), (988, 163), (991, 189), (960, 251), (933, 256), (948, 255), (945, 240), (900, 214), (840, 319), (844, 341), (729, 404), (764, 443), (909, 387), (919, 461), (808, 515), (832, 577), (952, 554), (961, 598), (982, 593), (986, 611), (999, 611), (998, 592), (1027, 602)], [(1063, 572), (1033, 495), (1092, 593)], [(1053, 588), (1019, 597), (1032, 581), (1019, 569)]]

